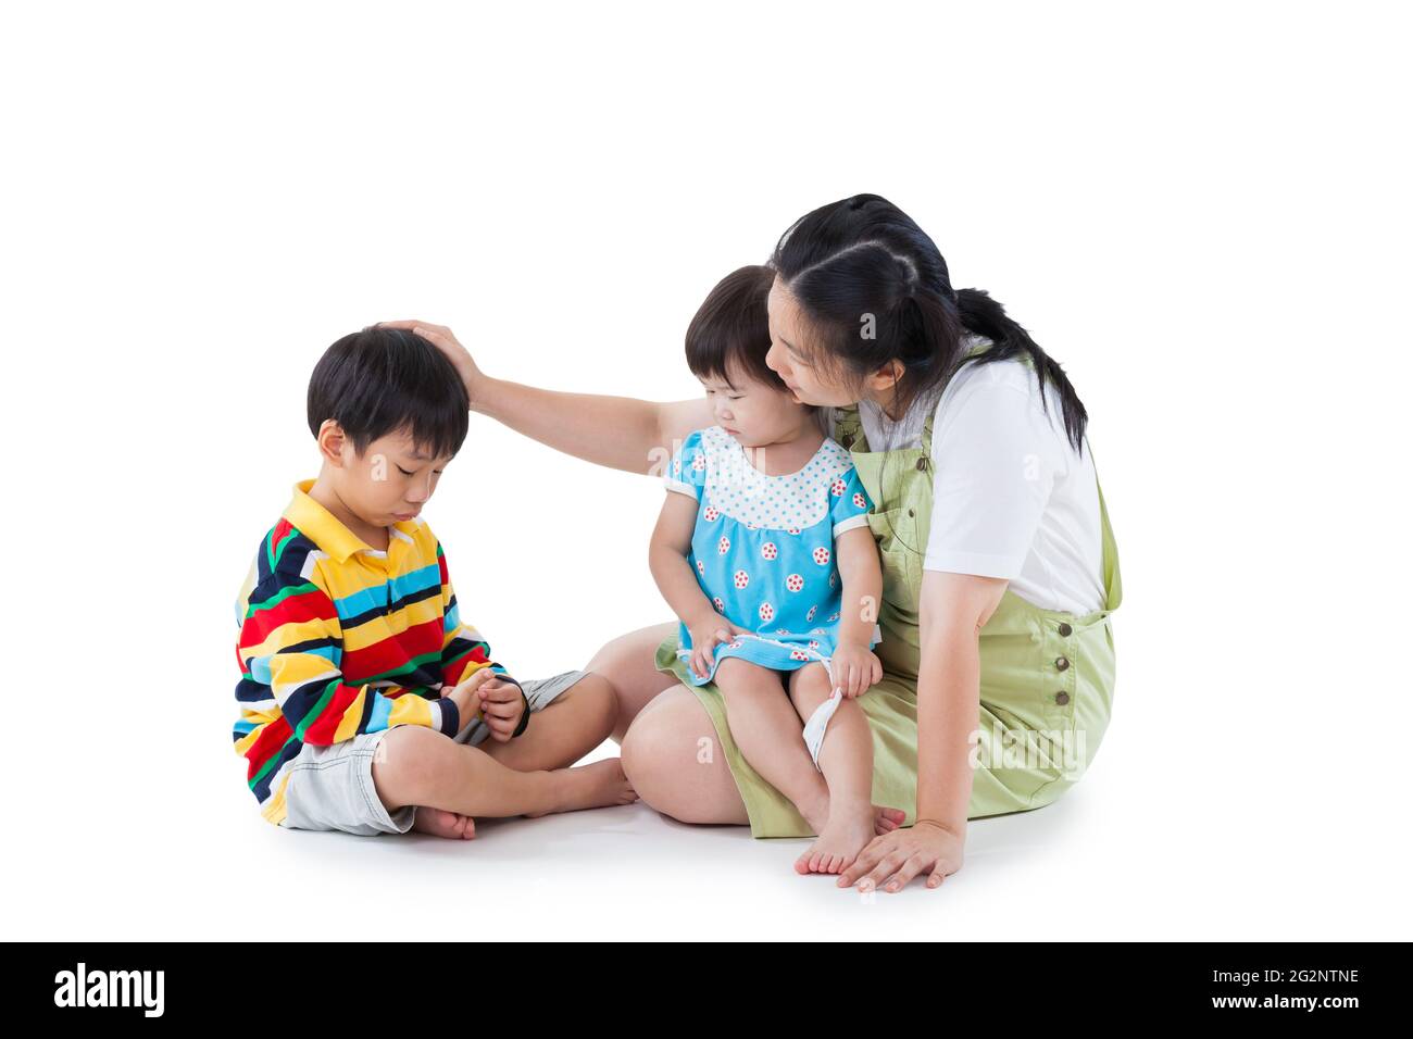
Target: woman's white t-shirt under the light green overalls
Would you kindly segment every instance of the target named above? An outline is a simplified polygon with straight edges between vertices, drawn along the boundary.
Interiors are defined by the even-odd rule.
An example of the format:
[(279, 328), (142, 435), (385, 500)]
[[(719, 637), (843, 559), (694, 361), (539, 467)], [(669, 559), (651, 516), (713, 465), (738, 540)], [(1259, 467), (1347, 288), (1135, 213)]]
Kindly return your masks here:
[(999, 360), (966, 365), (940, 399), (916, 400), (896, 423), (869, 400), (859, 420), (870, 451), (893, 451), (918, 447), (935, 409), (924, 570), (1002, 577), (1041, 609), (1089, 614), (1105, 599), (1094, 459), (1088, 442), (1081, 457), (1065, 437), (1054, 386), (1047, 397), (1048, 414), (1031, 369)]

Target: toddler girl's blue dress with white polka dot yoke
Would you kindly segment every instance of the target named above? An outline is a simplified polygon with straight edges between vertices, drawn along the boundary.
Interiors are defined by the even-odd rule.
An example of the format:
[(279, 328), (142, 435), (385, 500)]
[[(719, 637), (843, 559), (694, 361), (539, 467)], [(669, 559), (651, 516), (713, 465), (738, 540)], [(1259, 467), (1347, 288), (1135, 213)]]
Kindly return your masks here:
[[(670, 492), (697, 500), (687, 557), (718, 614), (753, 635), (718, 643), (705, 686), (726, 657), (791, 671), (834, 656), (844, 581), (834, 539), (868, 526), (873, 507), (849, 452), (828, 437), (798, 472), (767, 476), (719, 425), (697, 430), (673, 454)], [(873, 626), (869, 646), (877, 643)], [(677, 654), (691, 657), (691, 633), (678, 625)], [(828, 666), (828, 663), (825, 664)]]

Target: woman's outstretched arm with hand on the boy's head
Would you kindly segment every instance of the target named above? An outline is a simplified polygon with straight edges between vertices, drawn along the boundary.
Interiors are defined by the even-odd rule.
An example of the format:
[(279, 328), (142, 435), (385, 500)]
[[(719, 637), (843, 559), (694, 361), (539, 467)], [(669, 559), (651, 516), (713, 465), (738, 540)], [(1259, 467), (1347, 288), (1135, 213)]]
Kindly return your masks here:
[(593, 393), (561, 393), (485, 375), (452, 331), (424, 321), (384, 321), (406, 328), (445, 353), (462, 382), (471, 410), (509, 425), (555, 451), (627, 472), (661, 472), (673, 442), (714, 423), (702, 399), (654, 403)]

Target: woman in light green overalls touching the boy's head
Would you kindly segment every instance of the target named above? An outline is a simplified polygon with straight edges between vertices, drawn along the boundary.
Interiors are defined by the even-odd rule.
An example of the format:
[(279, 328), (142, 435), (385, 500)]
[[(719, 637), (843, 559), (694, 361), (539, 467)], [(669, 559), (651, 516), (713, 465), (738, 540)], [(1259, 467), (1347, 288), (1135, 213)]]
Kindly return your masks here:
[[(906, 828), (876, 837), (838, 884), (896, 892), (926, 872), (935, 888), (961, 868), (968, 818), (1050, 804), (1108, 727), (1122, 591), (1087, 414), (1000, 304), (954, 290), (933, 240), (877, 195), (807, 213), (771, 266), (767, 365), (827, 410), (873, 498), (883, 560), (885, 676), (859, 704), (873, 800), (903, 807)], [(449, 329), (397, 324), (452, 356), (473, 410), (601, 465), (647, 472), (712, 424), (705, 400), (493, 380)], [(639, 796), (687, 823), (810, 835), (740, 756), (715, 686), (664, 688), (664, 673), (681, 677), (675, 633), (630, 632), (589, 663), (619, 688), (613, 735)]]

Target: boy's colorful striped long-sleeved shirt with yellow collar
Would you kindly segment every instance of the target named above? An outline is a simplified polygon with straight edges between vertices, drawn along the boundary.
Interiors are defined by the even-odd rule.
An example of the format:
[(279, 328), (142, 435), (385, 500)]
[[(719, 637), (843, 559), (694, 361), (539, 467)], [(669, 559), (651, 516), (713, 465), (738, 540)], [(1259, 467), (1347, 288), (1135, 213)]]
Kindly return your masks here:
[[(305, 744), (393, 725), (455, 736), (461, 717), (442, 686), (483, 667), (514, 681), (462, 623), (447, 557), (421, 517), (389, 527), (379, 551), (309, 498), (311, 486), (295, 485), (236, 602), (233, 738), (260, 811), (276, 824), (287, 814), (290, 762)], [(528, 703), (519, 731), (527, 720)]]

